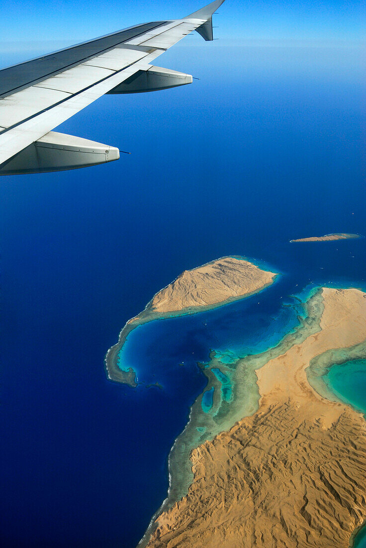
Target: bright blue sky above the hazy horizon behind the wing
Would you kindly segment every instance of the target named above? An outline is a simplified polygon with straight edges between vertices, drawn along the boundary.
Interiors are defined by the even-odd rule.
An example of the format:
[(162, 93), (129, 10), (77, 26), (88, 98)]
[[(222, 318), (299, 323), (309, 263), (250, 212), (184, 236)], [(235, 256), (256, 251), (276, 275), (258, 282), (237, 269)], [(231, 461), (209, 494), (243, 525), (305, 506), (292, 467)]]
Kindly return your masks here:
[[(175, 19), (205, 0), (3, 0), (0, 64), (30, 58), (140, 22)], [(366, 0), (226, 0), (216, 17), (217, 44), (363, 41)], [(190, 37), (184, 45), (199, 43)]]

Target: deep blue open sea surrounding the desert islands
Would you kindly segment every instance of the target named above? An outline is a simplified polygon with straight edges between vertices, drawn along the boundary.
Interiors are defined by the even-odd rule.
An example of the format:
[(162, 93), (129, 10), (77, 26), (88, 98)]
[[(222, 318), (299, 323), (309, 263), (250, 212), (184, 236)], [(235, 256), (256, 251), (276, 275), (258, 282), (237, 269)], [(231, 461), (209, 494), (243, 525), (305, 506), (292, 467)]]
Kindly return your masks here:
[[(3, 546), (136, 546), (205, 387), (196, 362), (276, 344), (304, 288), (366, 286), (366, 239), (289, 243), (366, 236), (361, 50), (210, 45), (158, 60), (193, 85), (104, 96), (60, 128), (131, 156), (0, 179)], [(282, 276), (136, 329), (126, 352), (142, 384), (108, 381), (104, 355), (127, 319), (224, 255)]]

